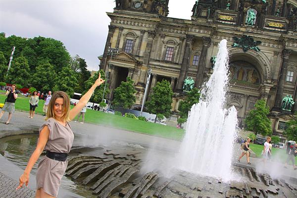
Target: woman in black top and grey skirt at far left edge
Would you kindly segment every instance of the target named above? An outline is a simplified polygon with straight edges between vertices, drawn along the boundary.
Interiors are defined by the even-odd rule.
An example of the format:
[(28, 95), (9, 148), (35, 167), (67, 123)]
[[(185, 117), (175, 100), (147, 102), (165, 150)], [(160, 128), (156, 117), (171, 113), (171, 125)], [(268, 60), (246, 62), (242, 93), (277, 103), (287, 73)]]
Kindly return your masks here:
[(17, 94), (15, 93), (16, 85), (11, 85), (11, 89), (8, 89), (5, 93), (7, 97), (4, 102), (4, 106), (2, 107), (2, 111), (0, 112), (0, 119), (3, 116), (4, 112), (8, 112), (8, 119), (6, 120), (5, 124), (9, 124), (10, 119), (12, 117), (12, 113), (14, 113), (14, 104), (15, 100), (17, 99)]

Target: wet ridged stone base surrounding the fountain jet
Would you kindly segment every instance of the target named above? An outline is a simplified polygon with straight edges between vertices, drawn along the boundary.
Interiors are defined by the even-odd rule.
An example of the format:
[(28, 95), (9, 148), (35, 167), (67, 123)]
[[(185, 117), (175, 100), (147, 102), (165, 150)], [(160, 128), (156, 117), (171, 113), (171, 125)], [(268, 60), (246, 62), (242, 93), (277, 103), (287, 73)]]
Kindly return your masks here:
[(66, 173), (99, 198), (297, 198), (296, 181), (272, 179), (253, 168), (234, 166), (242, 179), (229, 183), (182, 171), (171, 178), (144, 173), (144, 152), (108, 148), (72, 155)]

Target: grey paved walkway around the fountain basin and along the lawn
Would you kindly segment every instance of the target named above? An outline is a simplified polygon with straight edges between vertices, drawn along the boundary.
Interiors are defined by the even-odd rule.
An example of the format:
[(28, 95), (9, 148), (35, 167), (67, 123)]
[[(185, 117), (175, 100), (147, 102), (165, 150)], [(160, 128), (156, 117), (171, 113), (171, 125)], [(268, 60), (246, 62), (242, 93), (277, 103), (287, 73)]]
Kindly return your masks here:
[[(42, 115), (35, 115), (34, 119), (27, 118), (28, 112), (16, 111), (12, 117), (11, 124), (5, 125), (4, 122), (7, 119), (7, 114), (5, 113), (0, 120), (0, 138), (11, 134), (15, 131), (32, 131), (32, 129), (38, 131), (38, 128), (45, 121)], [(119, 129), (114, 129), (110, 127), (99, 126), (89, 123), (76, 123), (71, 122), (73, 132), (75, 134), (75, 139), (73, 146), (84, 146), (84, 147), (96, 147), (96, 146), (110, 146), (113, 144), (135, 144), (141, 145), (143, 147), (157, 148), (160, 150), (169, 150), (172, 152), (177, 152), (179, 147), (179, 142), (174, 140), (168, 140), (158, 137), (153, 137), (145, 134), (134, 133)], [(283, 164), (270, 162), (267, 164), (266, 168), (263, 166), (263, 163), (258, 158), (250, 158), (251, 165), (248, 165), (245, 157), (241, 159), (241, 162), (236, 162), (239, 166), (245, 167), (254, 167), (257, 171), (268, 171), (274, 176), (285, 175), (286, 177), (297, 179), (297, 170), (294, 171), (292, 166), (289, 169), (285, 169)], [(17, 185), (18, 178), (22, 173), (22, 169), (12, 164), (6, 158), (0, 155), (0, 192), (3, 191), (3, 196), (0, 194), (0, 197), (4, 195), (9, 195), (9, 192), (13, 192), (13, 198), (23, 198), (24, 192), (26, 196), (31, 196), (30, 192), (35, 191), (35, 176), (31, 176), (29, 189), (24, 188), (22, 191), (15, 191), (15, 185)], [(267, 168), (269, 167), (269, 168)], [(258, 172), (259, 172), (258, 171)], [(24, 191), (24, 192), (23, 192)], [(28, 191), (28, 192), (27, 192)], [(4, 192), (6, 194), (4, 194)], [(12, 194), (11, 194), (12, 195)], [(59, 198), (71, 198), (79, 197), (76, 196), (67, 190), (60, 189)], [(5, 197), (4, 197), (5, 198)]]

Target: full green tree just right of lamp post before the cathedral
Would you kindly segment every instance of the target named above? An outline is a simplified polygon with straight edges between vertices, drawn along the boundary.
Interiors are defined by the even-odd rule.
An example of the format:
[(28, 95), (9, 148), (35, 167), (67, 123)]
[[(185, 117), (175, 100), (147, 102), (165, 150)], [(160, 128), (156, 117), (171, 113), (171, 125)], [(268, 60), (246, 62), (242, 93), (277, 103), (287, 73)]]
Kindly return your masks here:
[(152, 94), (150, 100), (146, 103), (149, 113), (156, 114), (155, 122), (157, 120), (157, 114), (161, 113), (165, 117), (169, 117), (171, 114), (173, 91), (170, 83), (166, 80), (157, 82), (156, 86), (152, 88)]

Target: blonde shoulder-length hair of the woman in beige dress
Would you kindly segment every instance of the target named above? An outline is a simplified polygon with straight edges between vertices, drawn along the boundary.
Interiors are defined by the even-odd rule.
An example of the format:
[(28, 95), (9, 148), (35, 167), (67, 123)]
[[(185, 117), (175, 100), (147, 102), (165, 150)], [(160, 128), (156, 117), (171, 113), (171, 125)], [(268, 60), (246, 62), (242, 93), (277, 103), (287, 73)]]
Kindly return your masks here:
[(49, 100), (49, 106), (48, 106), (48, 112), (47, 112), (47, 117), (46, 120), (48, 120), (49, 118), (54, 118), (54, 111), (53, 111), (53, 107), (54, 107), (54, 103), (56, 99), (64, 99), (64, 104), (63, 104), (63, 114), (61, 116), (61, 120), (63, 122), (69, 122), (70, 118), (69, 118), (69, 113), (70, 113), (70, 99), (69, 96), (63, 92), (63, 91), (58, 91), (55, 92), (51, 99)]

